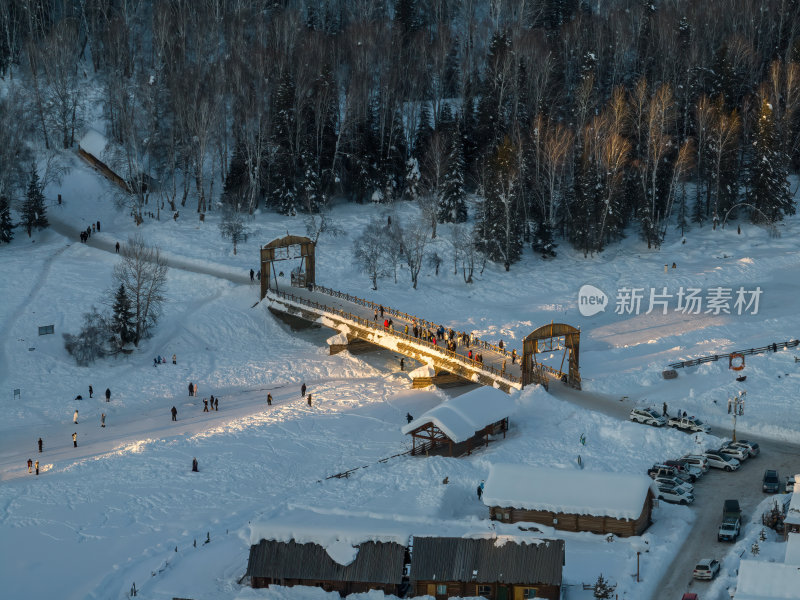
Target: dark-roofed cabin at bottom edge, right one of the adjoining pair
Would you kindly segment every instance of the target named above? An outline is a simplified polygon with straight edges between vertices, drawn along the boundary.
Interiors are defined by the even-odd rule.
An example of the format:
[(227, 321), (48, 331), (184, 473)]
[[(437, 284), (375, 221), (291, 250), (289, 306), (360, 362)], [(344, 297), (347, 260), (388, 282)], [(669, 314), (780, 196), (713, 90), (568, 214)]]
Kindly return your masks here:
[(436, 600), (561, 597), (564, 540), (417, 537), (411, 553), (414, 596)]

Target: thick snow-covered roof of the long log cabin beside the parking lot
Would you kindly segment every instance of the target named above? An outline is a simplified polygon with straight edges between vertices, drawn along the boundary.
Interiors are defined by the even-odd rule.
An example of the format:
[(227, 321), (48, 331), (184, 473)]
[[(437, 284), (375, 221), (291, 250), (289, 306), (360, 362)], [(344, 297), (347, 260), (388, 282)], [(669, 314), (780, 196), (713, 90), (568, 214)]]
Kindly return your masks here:
[(492, 465), (483, 491), (487, 506), (637, 519), (652, 481), (630, 473)]

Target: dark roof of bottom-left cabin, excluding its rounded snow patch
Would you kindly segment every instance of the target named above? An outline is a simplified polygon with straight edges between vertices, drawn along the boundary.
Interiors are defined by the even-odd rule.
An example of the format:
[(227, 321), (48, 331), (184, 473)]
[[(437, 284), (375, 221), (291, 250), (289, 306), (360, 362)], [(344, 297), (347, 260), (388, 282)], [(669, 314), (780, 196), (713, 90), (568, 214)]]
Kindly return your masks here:
[(312, 579), (396, 583), (403, 579), (405, 547), (394, 542), (364, 542), (353, 562), (341, 565), (319, 544), (261, 540), (250, 547), (247, 575), (273, 579)]

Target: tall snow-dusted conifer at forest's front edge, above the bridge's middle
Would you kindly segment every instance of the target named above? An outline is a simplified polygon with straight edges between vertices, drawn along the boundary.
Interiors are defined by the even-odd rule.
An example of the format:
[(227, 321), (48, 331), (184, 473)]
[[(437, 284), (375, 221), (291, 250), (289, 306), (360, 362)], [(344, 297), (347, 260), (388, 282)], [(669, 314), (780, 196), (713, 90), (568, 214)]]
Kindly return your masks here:
[(483, 223), (476, 239), (489, 260), (503, 263), (506, 271), (522, 256), (517, 165), (516, 149), (506, 136), (489, 162)]

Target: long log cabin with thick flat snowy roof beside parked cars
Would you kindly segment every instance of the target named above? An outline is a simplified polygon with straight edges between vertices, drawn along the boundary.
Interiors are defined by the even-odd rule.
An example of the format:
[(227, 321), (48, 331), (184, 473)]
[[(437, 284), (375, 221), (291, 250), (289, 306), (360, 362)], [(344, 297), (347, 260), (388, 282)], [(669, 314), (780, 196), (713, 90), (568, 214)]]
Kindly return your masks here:
[(628, 537), (650, 526), (652, 483), (629, 473), (495, 464), (482, 500), (495, 521)]

